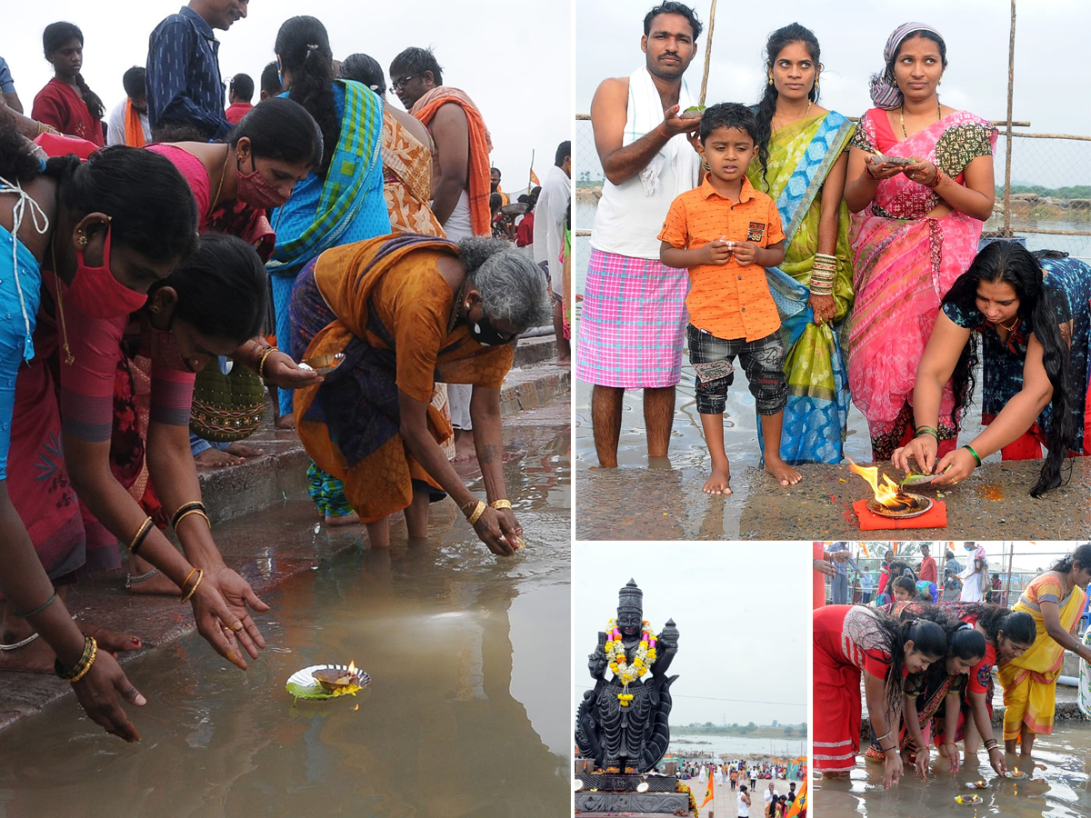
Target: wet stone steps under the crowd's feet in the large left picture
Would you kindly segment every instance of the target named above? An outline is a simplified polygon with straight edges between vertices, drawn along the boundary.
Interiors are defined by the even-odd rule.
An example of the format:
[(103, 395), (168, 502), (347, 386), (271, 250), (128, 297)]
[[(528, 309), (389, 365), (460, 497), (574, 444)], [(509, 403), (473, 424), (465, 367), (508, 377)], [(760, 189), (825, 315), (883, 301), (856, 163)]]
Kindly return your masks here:
[[(518, 421), (505, 424), (505, 459), (521, 457), (536, 441), (552, 438), (559, 428), (571, 428), (568, 384), (568, 370), (552, 362), (530, 363), (509, 373), (502, 409), (505, 417), (517, 417)], [(331, 529), (321, 524), (307, 495), (309, 458), (295, 432), (277, 431), (266, 424), (248, 443), (264, 448), (266, 454), (241, 466), (203, 472), (201, 484), (225, 561), (245, 577), (259, 596), (343, 551), (365, 546), (361, 527)], [(459, 473), (471, 488), (480, 480), (476, 467), (459, 467)], [(255, 512), (261, 514), (255, 516)], [(241, 519), (243, 515), (251, 516)], [(464, 525), (460, 517), (447, 500), (433, 505), (431, 525)], [(313, 525), (301, 525), (301, 519), (313, 519)], [(141, 637), (144, 648), (121, 654), (122, 665), (148, 649), (170, 645), (193, 631), (189, 605), (180, 605), (178, 598), (130, 594), (123, 588), (123, 569), (87, 577), (73, 588), (70, 599), (70, 609), (77, 618)], [(82, 711), (70, 694), (71, 687), (52, 675), (0, 672), (0, 732), (52, 705), (61, 708), (58, 718), (74, 724)], [(139, 709), (133, 711), (139, 727)]]

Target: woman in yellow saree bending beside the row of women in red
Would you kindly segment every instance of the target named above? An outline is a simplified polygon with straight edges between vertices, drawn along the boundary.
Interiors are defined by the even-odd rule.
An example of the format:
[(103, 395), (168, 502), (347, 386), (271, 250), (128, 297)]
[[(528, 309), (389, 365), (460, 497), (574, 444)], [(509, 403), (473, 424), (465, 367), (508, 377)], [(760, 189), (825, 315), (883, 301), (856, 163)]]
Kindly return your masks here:
[(1000, 665), (1004, 687), (1004, 744), (1008, 753), (1021, 744), (1029, 756), (1035, 735), (1053, 732), (1057, 676), (1065, 651), (1091, 661), (1091, 646), (1076, 638), (1076, 625), (1087, 604), (1091, 581), (1091, 544), (1076, 551), (1035, 577), (1011, 606), (1034, 617), (1038, 638), (1021, 657)]

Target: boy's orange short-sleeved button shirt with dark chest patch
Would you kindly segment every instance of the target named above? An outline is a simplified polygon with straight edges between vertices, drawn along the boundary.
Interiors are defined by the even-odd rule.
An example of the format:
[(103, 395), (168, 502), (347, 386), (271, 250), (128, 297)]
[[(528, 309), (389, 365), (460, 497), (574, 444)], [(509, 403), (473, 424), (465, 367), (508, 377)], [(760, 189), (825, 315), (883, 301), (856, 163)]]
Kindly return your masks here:
[[(739, 201), (721, 196), (708, 181), (671, 203), (659, 240), (679, 250), (703, 248), (710, 241), (752, 241), (767, 248), (784, 238), (776, 203), (754, 190), (746, 177)], [(777, 304), (769, 294), (765, 267), (742, 266), (734, 255), (727, 264), (690, 267), (690, 323), (717, 338), (757, 340), (780, 328)]]

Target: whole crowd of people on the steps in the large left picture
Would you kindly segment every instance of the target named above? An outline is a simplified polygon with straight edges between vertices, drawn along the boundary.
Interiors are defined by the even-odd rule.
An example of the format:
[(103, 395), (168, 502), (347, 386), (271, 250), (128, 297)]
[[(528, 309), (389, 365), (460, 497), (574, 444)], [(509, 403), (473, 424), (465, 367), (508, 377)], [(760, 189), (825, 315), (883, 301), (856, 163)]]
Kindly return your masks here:
[[(398, 53), (387, 85), (295, 16), (254, 105), (250, 75), (223, 83), (215, 37), (245, 16), (245, 0), (167, 16), (109, 115), (75, 24), (45, 27), (56, 75), (29, 116), (0, 60), (0, 670), (56, 672), (128, 741), (119, 699), (145, 698), (115, 655), (141, 641), (73, 619), (80, 577), (124, 552), (125, 587), (190, 603), (232, 663), (265, 647), (253, 614), (267, 605), (225, 564), (201, 501), (203, 453), (254, 453), (233, 406), (202, 402), (197, 423), (206, 371), (278, 393), (327, 522), (362, 521), (384, 548), (392, 515), (425, 537), (429, 503), (449, 495), (511, 555), (523, 529), (500, 390), (518, 336), (563, 315), (568, 142), (523, 230), (532, 253), (490, 238), (489, 131), (431, 49)], [(459, 433), (483, 497), (451, 465)]]

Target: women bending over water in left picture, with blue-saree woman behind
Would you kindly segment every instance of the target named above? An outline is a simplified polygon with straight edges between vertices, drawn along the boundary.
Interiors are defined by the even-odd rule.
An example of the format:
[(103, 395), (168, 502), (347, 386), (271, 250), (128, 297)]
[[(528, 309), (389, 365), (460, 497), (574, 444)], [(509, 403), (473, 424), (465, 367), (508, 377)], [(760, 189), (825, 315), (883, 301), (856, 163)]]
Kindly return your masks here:
[[(304, 390), (303, 440), (364, 521), (385, 525), (419, 495), (419, 528), (446, 492), (494, 553), (521, 542), (499, 389), (515, 337), (548, 318), (544, 282), (504, 242), (392, 234), (405, 197), (388, 208), (383, 195), (381, 98), (334, 80), (313, 17), (286, 22), (276, 50), (287, 98), (256, 106), (225, 143), (96, 149), (45, 134), (36, 146), (0, 117), (0, 669), (56, 671), (129, 741), (118, 697), (145, 699), (111, 654), (140, 639), (77, 625), (64, 604), (81, 575), (119, 567), (119, 542), (127, 587), (181, 593), (221, 655), (244, 670), (243, 653), (265, 646), (253, 612), (267, 605), (220, 556), (190, 453), (194, 380), (214, 358)], [(260, 336), (266, 260), (295, 292), (283, 342), (297, 357), (345, 352), (328, 381)], [(449, 424), (427, 411), (436, 372), (481, 387), (488, 504), (440, 448)]]

